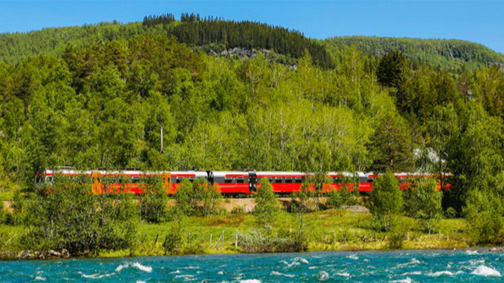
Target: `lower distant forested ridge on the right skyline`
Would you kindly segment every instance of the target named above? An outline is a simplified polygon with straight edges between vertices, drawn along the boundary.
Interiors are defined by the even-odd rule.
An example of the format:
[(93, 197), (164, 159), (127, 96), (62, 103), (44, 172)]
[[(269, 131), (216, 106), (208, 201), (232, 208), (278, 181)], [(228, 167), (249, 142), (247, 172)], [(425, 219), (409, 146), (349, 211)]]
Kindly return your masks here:
[(489, 64), (504, 66), (504, 55), (501, 53), (481, 44), (457, 39), (341, 36), (323, 42), (336, 56), (348, 46), (355, 46), (364, 54), (376, 57), (399, 49), (415, 68), (421, 63), (452, 71), (462, 66), (470, 69)]

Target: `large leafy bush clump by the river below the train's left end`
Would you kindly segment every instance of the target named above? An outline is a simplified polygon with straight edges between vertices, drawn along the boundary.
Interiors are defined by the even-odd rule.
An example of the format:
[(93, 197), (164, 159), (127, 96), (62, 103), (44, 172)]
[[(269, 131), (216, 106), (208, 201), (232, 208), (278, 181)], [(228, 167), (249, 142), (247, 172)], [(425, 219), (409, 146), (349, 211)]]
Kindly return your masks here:
[[(46, 190), (48, 191), (48, 190)], [(97, 254), (124, 249), (136, 237), (138, 209), (129, 194), (93, 195), (89, 180), (56, 179), (50, 193), (36, 196), (27, 207), (28, 232), (21, 244), (30, 250), (62, 250)]]

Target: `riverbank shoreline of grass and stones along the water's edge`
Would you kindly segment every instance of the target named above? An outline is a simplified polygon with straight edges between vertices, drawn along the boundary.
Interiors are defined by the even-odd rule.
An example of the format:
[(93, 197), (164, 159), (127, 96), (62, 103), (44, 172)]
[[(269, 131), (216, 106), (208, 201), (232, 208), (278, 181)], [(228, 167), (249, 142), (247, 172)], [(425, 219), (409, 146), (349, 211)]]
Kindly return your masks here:
[[(299, 215), (282, 212), (277, 219), (275, 231), (288, 232), (291, 235), (299, 233)], [(462, 219), (442, 219), (436, 233), (428, 234), (420, 229), (417, 222), (411, 218), (401, 217), (404, 223), (404, 239), (401, 249), (391, 249), (392, 232), (380, 232), (372, 229), (372, 218), (369, 213), (357, 212), (351, 207), (346, 209), (328, 209), (305, 213), (303, 217), (303, 235), (306, 237), (307, 251), (394, 251), (394, 250), (488, 250), (492, 247), (471, 246), (469, 236), (465, 231), (465, 221)], [(178, 230), (181, 240), (175, 250), (166, 251), (163, 241), (169, 237), (172, 229)], [(14, 244), (24, 233), (22, 226), (0, 226), (0, 233), (6, 234), (0, 257), (2, 260), (29, 260), (46, 258), (66, 258), (61, 251), (35, 252), (31, 249), (19, 250)], [(259, 233), (259, 234), (258, 234)], [(247, 253), (239, 245), (242, 236), (259, 237), (254, 215), (249, 213), (234, 213), (207, 217), (186, 217), (181, 223), (164, 222), (160, 224), (139, 223), (135, 242), (132, 248), (121, 250), (99, 250), (88, 255), (71, 255), (70, 258), (114, 258), (162, 255), (210, 255)], [(218, 242), (223, 235), (222, 242)], [(16, 238), (17, 237), (17, 238)], [(253, 244), (254, 246), (254, 244)], [(499, 248), (499, 247), (495, 247)], [(96, 251), (95, 251), (96, 252)], [(281, 251), (280, 251), (281, 252)], [(59, 253), (59, 254), (58, 254)], [(248, 254), (250, 254), (249, 252)]]

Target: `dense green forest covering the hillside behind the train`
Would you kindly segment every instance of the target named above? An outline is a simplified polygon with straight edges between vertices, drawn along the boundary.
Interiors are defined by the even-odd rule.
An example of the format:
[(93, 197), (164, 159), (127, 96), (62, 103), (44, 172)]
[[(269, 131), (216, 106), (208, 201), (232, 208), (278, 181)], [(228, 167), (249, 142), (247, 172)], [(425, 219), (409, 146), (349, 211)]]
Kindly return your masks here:
[[(294, 33), (296, 48), (308, 47), (292, 68), (261, 54), (209, 56), (180, 43), (166, 26), (205, 34), (212, 25), (234, 25), (228, 35), (254, 26), (186, 16), (153, 27), (112, 23), (0, 36), (2, 189), (29, 190), (37, 172), (63, 165), (390, 168), (451, 172), (456, 189), (446, 193), (445, 207), (461, 212), (471, 202), (504, 214), (494, 203), (504, 195), (504, 75), (496, 64), (471, 65), (496, 59), (474, 55), (453, 70), (415, 65), (400, 49), (370, 56), (353, 45), (327, 67)], [(10, 41), (16, 48), (4, 48)]]

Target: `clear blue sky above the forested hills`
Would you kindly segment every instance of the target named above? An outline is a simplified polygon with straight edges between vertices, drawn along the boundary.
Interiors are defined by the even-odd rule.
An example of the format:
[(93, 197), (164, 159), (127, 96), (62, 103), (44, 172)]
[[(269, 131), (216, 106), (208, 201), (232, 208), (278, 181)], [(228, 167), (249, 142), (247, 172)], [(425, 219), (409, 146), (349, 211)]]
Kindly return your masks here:
[(504, 1), (0, 1), (0, 32), (199, 13), (251, 20), (324, 39), (342, 35), (457, 38), (504, 53)]

